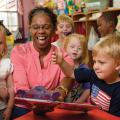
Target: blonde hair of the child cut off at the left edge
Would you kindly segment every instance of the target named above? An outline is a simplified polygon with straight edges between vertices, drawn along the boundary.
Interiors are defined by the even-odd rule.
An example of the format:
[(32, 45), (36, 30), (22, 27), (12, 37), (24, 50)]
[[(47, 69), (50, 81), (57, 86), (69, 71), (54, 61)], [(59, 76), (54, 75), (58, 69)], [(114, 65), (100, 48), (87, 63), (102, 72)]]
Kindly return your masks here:
[(7, 51), (8, 51), (8, 49), (7, 49), (7, 43), (6, 43), (5, 29), (1, 25), (0, 25), (0, 39), (2, 39), (2, 42), (3, 42), (3, 51), (0, 54), (0, 59), (1, 59), (5, 55), (7, 55)]

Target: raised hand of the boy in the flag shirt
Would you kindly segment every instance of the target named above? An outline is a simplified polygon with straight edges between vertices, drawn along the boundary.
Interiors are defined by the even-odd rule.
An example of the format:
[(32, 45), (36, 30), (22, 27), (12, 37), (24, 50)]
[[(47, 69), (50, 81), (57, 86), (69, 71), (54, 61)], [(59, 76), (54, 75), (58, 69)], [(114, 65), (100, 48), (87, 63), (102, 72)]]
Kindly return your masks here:
[(60, 49), (59, 47), (55, 52), (52, 53), (52, 62), (59, 65), (63, 62), (62, 49)]

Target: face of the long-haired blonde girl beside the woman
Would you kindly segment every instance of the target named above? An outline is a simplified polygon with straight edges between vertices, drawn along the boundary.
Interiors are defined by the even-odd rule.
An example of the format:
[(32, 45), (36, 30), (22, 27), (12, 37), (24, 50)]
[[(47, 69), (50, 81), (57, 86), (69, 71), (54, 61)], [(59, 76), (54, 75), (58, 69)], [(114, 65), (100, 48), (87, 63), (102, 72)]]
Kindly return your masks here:
[(82, 57), (82, 46), (80, 40), (75, 37), (71, 38), (67, 45), (66, 51), (74, 61), (79, 60)]

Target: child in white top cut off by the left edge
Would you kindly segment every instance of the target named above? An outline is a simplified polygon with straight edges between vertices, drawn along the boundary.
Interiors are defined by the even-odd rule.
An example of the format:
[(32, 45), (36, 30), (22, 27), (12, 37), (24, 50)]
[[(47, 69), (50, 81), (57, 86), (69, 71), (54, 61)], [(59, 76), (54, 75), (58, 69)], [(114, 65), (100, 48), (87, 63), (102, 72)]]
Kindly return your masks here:
[(7, 45), (3, 27), (0, 27), (0, 120), (9, 120), (14, 104), (13, 66), (5, 58)]

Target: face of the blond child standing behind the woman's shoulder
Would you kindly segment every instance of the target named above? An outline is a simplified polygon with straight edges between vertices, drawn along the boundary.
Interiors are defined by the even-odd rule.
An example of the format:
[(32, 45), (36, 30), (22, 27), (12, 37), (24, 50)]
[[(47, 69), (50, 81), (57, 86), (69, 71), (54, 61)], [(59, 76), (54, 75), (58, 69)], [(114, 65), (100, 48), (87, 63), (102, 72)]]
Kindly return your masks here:
[(64, 37), (71, 33), (73, 33), (73, 28), (70, 23), (62, 22), (62, 21), (60, 23), (58, 23), (56, 34), (58, 34), (59, 37), (61, 37), (61, 36)]

